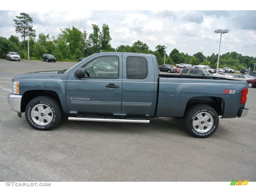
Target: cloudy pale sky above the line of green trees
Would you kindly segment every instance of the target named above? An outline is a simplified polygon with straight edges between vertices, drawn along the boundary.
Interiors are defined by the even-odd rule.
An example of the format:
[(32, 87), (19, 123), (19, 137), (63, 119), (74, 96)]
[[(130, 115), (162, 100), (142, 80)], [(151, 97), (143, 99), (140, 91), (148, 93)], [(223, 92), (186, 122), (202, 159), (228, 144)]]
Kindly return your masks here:
[[(15, 16), (19, 16), (19, 13), (25, 12), (33, 18), (37, 36), (39, 33), (49, 33), (50, 37), (57, 36), (60, 28), (72, 28), (72, 26), (92, 33), (92, 24), (97, 24), (100, 29), (102, 24), (107, 24), (112, 37), (110, 42), (112, 47), (132, 46), (134, 42), (140, 40), (153, 51), (157, 45), (165, 45), (168, 47), (167, 54), (174, 48), (189, 55), (197, 52), (202, 52), (205, 56), (210, 56), (212, 53), (218, 54), (220, 34), (215, 34), (214, 30), (229, 29), (229, 33), (222, 35), (220, 54), (236, 51), (242, 55), (256, 57), (256, 11), (245, 10), (247, 7), (239, 5), (241, 1), (234, 8), (243, 10), (203, 10), (205, 7), (198, 8), (195, 5), (191, 9), (197, 10), (190, 10), (187, 6), (189, 4), (184, 6), (183, 2), (176, 4), (175, 9), (179, 10), (161, 10), (163, 9), (160, 6), (162, 1), (157, 1), (157, 5), (150, 4), (149, 6), (148, 4), (146, 7), (143, 7), (143, 3), (128, 5), (128, 2), (136, 1), (119, 1), (119, 4), (122, 4), (119, 5), (120, 7), (104, 6), (105, 4), (101, 1), (94, 1), (93, 6), (73, 3), (59, 7), (57, 4), (50, 3), (48, 7), (38, 4), (36, 8), (27, 8), (23, 5), (20, 10), (1, 10), (0, 36), (20, 37), (20, 34), (15, 33), (13, 19), (16, 19)], [(243, 2), (247, 3), (247, 0)], [(95, 3), (101, 6), (95, 6)], [(217, 3), (218, 1), (212, 8), (217, 9)], [(224, 8), (228, 9), (229, 4), (225, 6)], [(250, 6), (247, 6), (250, 9)], [(45, 10), (40, 7), (44, 7)], [(58, 10), (47, 10), (54, 7)], [(98, 10), (84, 10), (83, 7)], [(164, 7), (174, 9), (171, 5)], [(67, 10), (68, 8), (70, 10)], [(121, 10), (124, 8), (129, 10)], [(148, 10), (132, 10), (144, 8)]]

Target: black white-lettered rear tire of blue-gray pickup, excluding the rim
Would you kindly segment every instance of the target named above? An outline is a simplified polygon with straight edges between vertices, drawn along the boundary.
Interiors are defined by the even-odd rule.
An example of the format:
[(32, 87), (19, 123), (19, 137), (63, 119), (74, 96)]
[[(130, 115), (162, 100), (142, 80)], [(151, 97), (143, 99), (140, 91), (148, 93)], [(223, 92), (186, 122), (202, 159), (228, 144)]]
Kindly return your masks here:
[[(205, 133), (197, 132), (193, 127), (193, 120), (194, 120), (195, 116), (200, 112), (207, 112), (208, 114), (210, 114), (212, 116), (213, 121), (214, 121), (211, 129)], [(185, 116), (185, 126), (186, 126), (188, 132), (194, 137), (198, 137), (198, 138), (209, 137), (217, 130), (218, 125), (219, 125), (219, 116), (218, 116), (217, 112), (212, 107), (210, 107), (208, 105), (195, 105), (190, 110), (188, 110), (188, 112)]]

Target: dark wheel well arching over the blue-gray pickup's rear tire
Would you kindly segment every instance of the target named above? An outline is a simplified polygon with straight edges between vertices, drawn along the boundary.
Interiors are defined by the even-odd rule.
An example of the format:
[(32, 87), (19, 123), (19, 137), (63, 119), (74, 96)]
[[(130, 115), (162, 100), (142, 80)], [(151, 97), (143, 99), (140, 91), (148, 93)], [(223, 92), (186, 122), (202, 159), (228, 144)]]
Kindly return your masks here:
[(220, 97), (193, 97), (187, 102), (185, 112), (194, 105), (206, 104), (215, 109), (218, 115), (223, 115), (224, 100)]

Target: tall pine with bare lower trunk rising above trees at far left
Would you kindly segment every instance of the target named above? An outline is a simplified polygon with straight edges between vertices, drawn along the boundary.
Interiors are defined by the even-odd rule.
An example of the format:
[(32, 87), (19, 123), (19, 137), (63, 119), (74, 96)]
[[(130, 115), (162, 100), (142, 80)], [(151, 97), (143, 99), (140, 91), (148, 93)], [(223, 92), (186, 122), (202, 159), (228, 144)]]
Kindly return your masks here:
[(13, 20), (15, 22), (15, 32), (21, 33), (21, 37), (23, 37), (23, 47), (25, 50), (25, 37), (27, 37), (28, 31), (29, 36), (36, 37), (36, 30), (32, 29), (32, 27), (27, 27), (27, 25), (33, 23), (33, 18), (27, 13), (20, 13), (20, 16), (16, 16), (16, 19)]

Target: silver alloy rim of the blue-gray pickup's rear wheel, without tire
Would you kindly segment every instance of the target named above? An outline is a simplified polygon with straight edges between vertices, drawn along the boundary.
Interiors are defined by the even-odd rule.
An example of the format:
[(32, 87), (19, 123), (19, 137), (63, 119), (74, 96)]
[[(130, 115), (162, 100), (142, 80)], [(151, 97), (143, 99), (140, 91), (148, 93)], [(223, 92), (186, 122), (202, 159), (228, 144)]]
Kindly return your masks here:
[(214, 120), (210, 113), (200, 112), (193, 119), (193, 127), (199, 133), (209, 131), (214, 124)]

